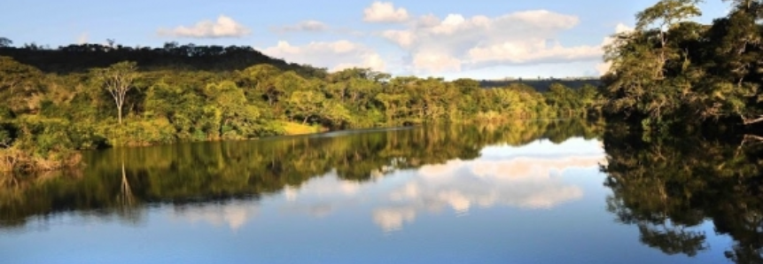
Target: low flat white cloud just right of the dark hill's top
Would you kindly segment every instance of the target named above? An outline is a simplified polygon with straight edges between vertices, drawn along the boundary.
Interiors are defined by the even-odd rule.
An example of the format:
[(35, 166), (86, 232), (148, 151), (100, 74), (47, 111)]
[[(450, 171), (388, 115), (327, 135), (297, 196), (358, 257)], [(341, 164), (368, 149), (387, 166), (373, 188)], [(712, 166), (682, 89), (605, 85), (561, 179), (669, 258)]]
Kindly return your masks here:
[(324, 66), (331, 71), (355, 66), (368, 67), (377, 71), (385, 70), (385, 61), (375, 50), (346, 40), (312, 42), (301, 46), (281, 41), (276, 46), (263, 49), (262, 52), (275, 58)]

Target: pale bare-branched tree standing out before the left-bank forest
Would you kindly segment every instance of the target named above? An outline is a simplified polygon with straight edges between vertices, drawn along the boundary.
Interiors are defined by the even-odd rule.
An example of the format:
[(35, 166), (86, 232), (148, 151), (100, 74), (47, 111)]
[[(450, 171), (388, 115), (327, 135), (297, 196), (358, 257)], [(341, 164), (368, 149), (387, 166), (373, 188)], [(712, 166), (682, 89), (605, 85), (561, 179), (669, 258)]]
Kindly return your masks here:
[(95, 70), (97, 81), (106, 89), (114, 99), (117, 106), (119, 123), (122, 123), (122, 106), (125, 104), (127, 93), (133, 88), (137, 73), (137, 64), (131, 61), (123, 61), (106, 68)]

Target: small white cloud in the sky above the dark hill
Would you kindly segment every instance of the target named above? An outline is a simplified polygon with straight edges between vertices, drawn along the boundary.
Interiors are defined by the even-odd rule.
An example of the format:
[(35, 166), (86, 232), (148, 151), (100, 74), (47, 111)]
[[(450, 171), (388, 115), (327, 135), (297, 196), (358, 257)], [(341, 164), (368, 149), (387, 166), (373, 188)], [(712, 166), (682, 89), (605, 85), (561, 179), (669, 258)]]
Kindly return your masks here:
[(190, 38), (222, 38), (250, 35), (252, 31), (228, 16), (220, 15), (217, 20), (202, 20), (191, 27), (174, 29), (160, 28), (160, 35)]

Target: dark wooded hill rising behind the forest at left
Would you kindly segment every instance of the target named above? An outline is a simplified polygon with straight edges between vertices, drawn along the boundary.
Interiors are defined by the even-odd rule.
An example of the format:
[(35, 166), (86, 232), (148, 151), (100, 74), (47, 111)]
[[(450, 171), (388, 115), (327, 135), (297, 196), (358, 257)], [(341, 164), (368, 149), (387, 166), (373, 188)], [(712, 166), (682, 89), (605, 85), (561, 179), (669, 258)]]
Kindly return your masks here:
[(126, 47), (122, 45), (73, 44), (47, 49), (36, 45), (0, 47), (0, 56), (35, 66), (46, 73), (69, 74), (87, 72), (91, 68), (110, 66), (125, 60), (135, 61), (146, 70), (184, 69), (214, 72), (242, 70), (257, 64), (270, 64), (304, 76), (323, 77), (325, 68), (288, 63), (271, 58), (248, 46), (197, 46), (166, 43), (161, 48)]

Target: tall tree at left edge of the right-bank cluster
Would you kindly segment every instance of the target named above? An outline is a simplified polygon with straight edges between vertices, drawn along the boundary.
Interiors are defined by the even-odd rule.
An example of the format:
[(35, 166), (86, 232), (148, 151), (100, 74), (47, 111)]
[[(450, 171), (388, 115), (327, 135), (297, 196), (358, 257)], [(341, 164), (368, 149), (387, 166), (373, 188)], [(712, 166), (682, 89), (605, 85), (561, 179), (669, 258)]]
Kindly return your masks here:
[(701, 13), (699, 2), (659, 1), (637, 13), (635, 30), (615, 35), (605, 47), (611, 68), (602, 93), (611, 113), (641, 122), (644, 129), (662, 129), (687, 120), (680, 114), (696, 115), (691, 107), (705, 105), (696, 103), (701, 98), (696, 84), (704, 79), (705, 27), (685, 21)]

